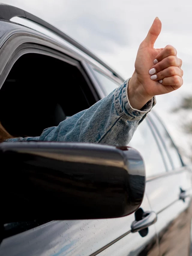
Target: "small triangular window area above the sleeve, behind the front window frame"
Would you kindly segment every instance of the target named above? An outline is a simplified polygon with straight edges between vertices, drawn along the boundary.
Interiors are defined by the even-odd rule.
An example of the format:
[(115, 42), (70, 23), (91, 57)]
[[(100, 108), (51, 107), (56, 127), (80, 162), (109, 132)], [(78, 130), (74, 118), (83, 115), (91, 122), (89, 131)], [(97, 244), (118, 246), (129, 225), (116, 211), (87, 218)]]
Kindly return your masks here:
[(94, 69), (94, 73), (107, 95), (110, 94), (110, 92), (115, 90), (120, 85), (119, 83), (110, 79), (110, 77), (106, 76), (104, 73), (101, 73), (96, 69)]

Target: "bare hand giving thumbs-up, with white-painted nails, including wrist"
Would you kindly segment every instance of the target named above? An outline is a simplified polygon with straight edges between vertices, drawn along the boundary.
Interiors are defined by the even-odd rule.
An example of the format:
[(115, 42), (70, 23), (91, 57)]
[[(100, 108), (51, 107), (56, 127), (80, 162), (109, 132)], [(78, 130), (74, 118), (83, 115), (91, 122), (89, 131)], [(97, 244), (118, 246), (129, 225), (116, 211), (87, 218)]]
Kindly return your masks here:
[(155, 18), (138, 49), (135, 71), (128, 86), (133, 108), (141, 109), (153, 96), (172, 92), (183, 84), (182, 60), (177, 57), (176, 49), (171, 45), (153, 48), (160, 32), (161, 21)]

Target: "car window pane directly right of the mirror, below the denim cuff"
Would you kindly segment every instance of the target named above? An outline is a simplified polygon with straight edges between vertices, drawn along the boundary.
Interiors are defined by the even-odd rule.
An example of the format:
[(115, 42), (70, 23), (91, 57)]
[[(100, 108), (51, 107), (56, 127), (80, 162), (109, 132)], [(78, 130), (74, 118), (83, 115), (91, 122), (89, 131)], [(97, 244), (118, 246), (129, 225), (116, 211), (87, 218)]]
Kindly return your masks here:
[(166, 172), (161, 149), (146, 119), (138, 126), (128, 146), (137, 149), (142, 155), (147, 177)]

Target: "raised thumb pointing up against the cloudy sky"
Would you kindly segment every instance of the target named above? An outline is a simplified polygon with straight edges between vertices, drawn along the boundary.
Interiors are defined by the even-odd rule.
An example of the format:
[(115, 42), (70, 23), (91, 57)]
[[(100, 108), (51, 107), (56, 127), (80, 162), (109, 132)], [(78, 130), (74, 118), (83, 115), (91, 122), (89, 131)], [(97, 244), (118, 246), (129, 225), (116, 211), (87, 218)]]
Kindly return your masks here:
[(146, 38), (144, 39), (144, 42), (148, 46), (153, 47), (160, 32), (161, 32), (161, 20), (159, 20), (159, 18), (156, 17), (155, 20), (153, 21), (151, 28), (149, 29), (149, 32)]

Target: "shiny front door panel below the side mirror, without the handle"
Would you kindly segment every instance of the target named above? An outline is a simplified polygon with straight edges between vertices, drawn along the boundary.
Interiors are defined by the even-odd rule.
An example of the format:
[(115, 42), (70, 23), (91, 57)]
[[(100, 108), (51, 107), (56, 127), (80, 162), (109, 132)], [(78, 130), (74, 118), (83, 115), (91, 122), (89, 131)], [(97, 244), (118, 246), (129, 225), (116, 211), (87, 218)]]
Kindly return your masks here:
[[(146, 197), (144, 197), (141, 207), (143, 207), (144, 211), (151, 210)], [(154, 224), (149, 227), (147, 236), (141, 237), (138, 232), (130, 233), (131, 224), (134, 220), (133, 213), (126, 217), (115, 219), (51, 221), (4, 239), (1, 243), (0, 255), (96, 255), (94, 254), (95, 252), (104, 250), (105, 247), (111, 244), (113, 244), (113, 248), (118, 248), (119, 242), (115, 241), (122, 237), (126, 237), (123, 240), (120, 239), (121, 241), (119, 240), (120, 243), (126, 241), (124, 243), (125, 248), (122, 248), (124, 252), (126, 251), (126, 255), (130, 251), (136, 250), (138, 244), (140, 244), (141, 249), (143, 247), (148, 248), (150, 245), (150, 255), (158, 255), (158, 242)], [(124, 252), (116, 255), (125, 255)], [(135, 252), (135, 254), (130, 255), (139, 254)]]

